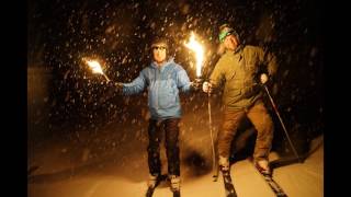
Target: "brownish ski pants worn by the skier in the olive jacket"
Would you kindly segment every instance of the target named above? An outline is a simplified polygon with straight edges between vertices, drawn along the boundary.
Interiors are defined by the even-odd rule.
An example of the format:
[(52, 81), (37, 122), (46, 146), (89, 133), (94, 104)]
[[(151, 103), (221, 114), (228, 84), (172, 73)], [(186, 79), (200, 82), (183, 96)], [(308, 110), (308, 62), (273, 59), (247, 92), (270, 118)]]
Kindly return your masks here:
[(262, 101), (256, 102), (248, 109), (225, 109), (222, 129), (218, 131), (217, 138), (217, 151), (219, 155), (223, 158), (229, 158), (231, 140), (245, 116), (249, 118), (258, 132), (253, 159), (268, 160), (272, 147), (273, 121)]

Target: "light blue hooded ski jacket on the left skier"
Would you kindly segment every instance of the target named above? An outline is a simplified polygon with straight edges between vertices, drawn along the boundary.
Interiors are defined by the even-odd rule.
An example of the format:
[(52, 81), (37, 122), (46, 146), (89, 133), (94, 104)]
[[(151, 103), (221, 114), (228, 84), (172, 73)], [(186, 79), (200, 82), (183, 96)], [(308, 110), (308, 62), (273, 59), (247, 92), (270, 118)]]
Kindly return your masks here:
[(148, 91), (148, 106), (152, 119), (181, 117), (179, 92), (189, 92), (191, 82), (185, 70), (169, 59), (161, 67), (156, 62), (143, 69), (131, 83), (123, 84), (123, 94), (132, 95)]

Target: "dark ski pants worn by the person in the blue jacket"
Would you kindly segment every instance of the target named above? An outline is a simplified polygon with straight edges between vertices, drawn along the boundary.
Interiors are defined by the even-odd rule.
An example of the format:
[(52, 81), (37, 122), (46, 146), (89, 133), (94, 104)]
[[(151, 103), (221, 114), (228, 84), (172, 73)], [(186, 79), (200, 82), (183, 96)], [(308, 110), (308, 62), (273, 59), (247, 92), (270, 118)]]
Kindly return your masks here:
[(177, 176), (180, 175), (178, 144), (179, 121), (180, 118), (170, 118), (165, 120), (149, 119), (149, 144), (147, 152), (150, 174), (161, 174), (160, 142), (162, 140), (162, 134), (165, 134), (168, 174)]

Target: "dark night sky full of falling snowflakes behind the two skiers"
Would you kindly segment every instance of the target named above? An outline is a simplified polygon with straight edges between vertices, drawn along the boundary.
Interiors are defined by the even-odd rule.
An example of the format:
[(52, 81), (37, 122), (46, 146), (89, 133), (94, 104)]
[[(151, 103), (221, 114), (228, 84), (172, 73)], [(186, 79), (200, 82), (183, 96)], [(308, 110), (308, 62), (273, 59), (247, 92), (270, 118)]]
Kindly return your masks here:
[[(283, 115), (294, 114), (296, 121), (318, 121), (324, 109), (321, 18), (322, 7), (314, 0), (30, 0), (29, 68), (52, 73), (53, 123), (90, 121), (91, 117), (116, 111), (115, 105), (126, 99), (95, 107), (104, 93), (102, 78), (87, 71), (81, 57), (104, 59), (112, 80), (128, 82), (148, 65), (151, 37), (165, 34), (173, 43), (176, 60), (194, 79), (194, 69), (189, 66), (192, 56), (182, 45), (194, 31), (207, 49), (206, 77), (218, 59), (217, 28), (229, 22), (244, 43), (276, 54), (280, 69), (273, 94)], [(144, 106), (145, 96), (136, 101), (140, 101), (136, 106)], [(131, 107), (118, 113), (133, 116)]]

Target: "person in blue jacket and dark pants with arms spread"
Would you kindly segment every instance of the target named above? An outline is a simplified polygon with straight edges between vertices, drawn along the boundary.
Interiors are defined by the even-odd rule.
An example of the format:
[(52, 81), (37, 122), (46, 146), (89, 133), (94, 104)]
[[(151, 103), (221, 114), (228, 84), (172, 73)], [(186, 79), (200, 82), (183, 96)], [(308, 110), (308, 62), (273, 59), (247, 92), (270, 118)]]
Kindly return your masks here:
[(179, 92), (199, 90), (199, 82), (190, 82), (185, 70), (169, 58), (166, 38), (156, 38), (151, 44), (152, 62), (144, 68), (131, 83), (117, 83), (123, 95), (148, 91), (148, 106), (151, 114), (148, 126), (149, 144), (148, 187), (154, 188), (161, 178), (160, 141), (166, 136), (168, 175), (171, 190), (180, 194), (179, 121), (181, 105)]

